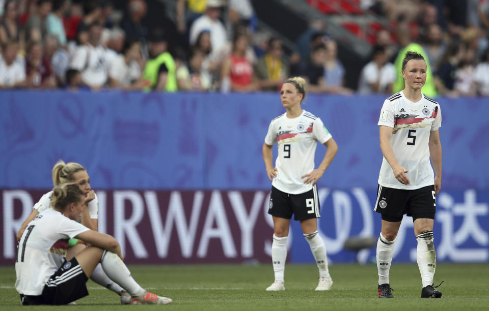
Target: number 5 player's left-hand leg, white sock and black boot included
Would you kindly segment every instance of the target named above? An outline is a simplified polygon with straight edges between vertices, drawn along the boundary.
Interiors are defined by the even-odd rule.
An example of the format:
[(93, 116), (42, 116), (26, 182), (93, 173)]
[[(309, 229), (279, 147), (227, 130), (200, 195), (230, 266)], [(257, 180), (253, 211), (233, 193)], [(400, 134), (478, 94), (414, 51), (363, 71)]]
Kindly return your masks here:
[(377, 240), (378, 297), (393, 298), (389, 284), (389, 270), (394, 254), (394, 242), (401, 222), (382, 220), (381, 235)]

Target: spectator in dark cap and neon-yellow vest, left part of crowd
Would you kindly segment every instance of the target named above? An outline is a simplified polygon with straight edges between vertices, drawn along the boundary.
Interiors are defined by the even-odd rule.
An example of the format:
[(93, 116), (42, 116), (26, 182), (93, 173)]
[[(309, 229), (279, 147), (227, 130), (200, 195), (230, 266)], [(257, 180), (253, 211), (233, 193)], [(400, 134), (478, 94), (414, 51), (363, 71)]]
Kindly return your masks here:
[(143, 78), (150, 82), (146, 89), (177, 91), (175, 60), (168, 52), (168, 41), (159, 29), (151, 36), (149, 52), (151, 58), (146, 62), (143, 73)]

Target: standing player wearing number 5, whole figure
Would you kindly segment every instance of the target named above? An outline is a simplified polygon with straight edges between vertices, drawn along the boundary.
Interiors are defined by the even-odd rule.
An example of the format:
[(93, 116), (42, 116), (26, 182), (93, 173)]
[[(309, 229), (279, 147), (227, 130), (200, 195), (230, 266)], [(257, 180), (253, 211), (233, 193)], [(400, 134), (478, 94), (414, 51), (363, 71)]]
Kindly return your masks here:
[[(389, 97), (378, 120), (384, 154), (374, 210), (382, 214), (377, 242), (378, 297), (393, 298), (389, 284), (394, 242), (404, 214), (413, 217), (421, 298), (441, 298), (433, 288), (437, 253), (433, 244), (435, 196), (440, 192), (442, 146), (440, 105), (421, 93), (426, 81), (423, 56), (407, 52), (402, 62), (404, 89)], [(433, 169), (430, 165), (430, 160)]]

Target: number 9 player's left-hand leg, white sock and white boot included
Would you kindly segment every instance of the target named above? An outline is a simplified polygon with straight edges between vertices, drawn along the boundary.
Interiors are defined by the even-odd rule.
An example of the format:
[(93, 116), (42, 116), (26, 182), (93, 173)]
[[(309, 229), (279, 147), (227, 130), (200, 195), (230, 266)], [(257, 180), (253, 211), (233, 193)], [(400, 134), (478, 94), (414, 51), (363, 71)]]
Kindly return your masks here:
[(290, 219), (272, 216), (274, 220), (274, 241), (271, 243), (271, 261), (274, 266), (275, 282), (266, 291), (283, 291), (285, 260), (287, 259), (287, 236)]

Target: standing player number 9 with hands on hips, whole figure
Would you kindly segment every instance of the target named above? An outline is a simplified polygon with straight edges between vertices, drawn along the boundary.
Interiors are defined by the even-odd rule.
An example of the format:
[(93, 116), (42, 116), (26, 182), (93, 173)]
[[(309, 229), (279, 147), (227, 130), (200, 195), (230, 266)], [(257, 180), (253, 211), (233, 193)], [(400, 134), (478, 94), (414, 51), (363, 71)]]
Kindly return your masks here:
[[(280, 98), (287, 111), (271, 120), (263, 144), (266, 174), (272, 180), (268, 213), (274, 220), (271, 260), (275, 282), (266, 289), (267, 291), (285, 290), (287, 236), (292, 214), (294, 220), (301, 222), (304, 237), (311, 246), (319, 268), (319, 284), (316, 291), (330, 290), (333, 285), (328, 271), (326, 248), (317, 232), (316, 219), (320, 214), (316, 182), (335, 158), (338, 146), (323, 126), (321, 119), (302, 110), (301, 104), (305, 96), (303, 78), (290, 78), (284, 82)], [(274, 168), (272, 147), (276, 142), (279, 152)], [(324, 144), (328, 150), (319, 167), (314, 169), (317, 142)]]

